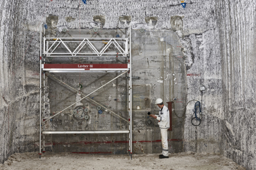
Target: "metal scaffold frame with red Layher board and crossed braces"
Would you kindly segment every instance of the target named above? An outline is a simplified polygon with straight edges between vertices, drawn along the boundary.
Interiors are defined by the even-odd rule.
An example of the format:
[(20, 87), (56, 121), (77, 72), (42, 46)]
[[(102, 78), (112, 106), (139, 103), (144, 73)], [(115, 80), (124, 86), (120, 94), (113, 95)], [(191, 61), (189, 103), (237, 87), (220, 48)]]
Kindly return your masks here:
[[(41, 24), (42, 26), (42, 24)], [(44, 31), (45, 32), (45, 31)], [(79, 42), (79, 45), (76, 47), (74, 51), (71, 51), (71, 48), (68, 47), (68, 43), (74, 43)], [(49, 43), (52, 43), (52, 45), (49, 47)], [(101, 51), (97, 50), (95, 47), (95, 43), (104, 43), (105, 46), (101, 49)], [(124, 43), (124, 49), (121, 47), (120, 44)], [(65, 51), (67, 52), (60, 52), (56, 49), (62, 44), (65, 47)], [(88, 44), (89, 50), (93, 52), (85, 53), (82, 52), (81, 49), (84, 45)], [(108, 47), (113, 44), (116, 49), (118, 49), (118, 53), (111, 53), (107, 52)], [(43, 45), (43, 47), (42, 47)], [(54, 46), (55, 45), (55, 46)], [(43, 57), (42, 57), (43, 55)], [(45, 58), (46, 57), (127, 57), (127, 63), (126, 64), (46, 64)], [(89, 94), (83, 94), (80, 91), (77, 91), (75, 88), (71, 87), (70, 85), (67, 85), (60, 79), (56, 78), (53, 74), (50, 74), (51, 72), (54, 73), (66, 73), (66, 72), (123, 72), (119, 74), (114, 79), (119, 78), (122, 75), (128, 74), (128, 81), (129, 81), (129, 94), (128, 94), (128, 113), (129, 113), (129, 119), (125, 119), (121, 117), (120, 115), (114, 113), (113, 111), (109, 110), (108, 108), (102, 106), (100, 103), (95, 102), (94, 100), (90, 99), (88, 96), (94, 93), (95, 91), (98, 91), (105, 85), (111, 83), (114, 79), (111, 79), (106, 84), (102, 85), (95, 91), (92, 91)], [(48, 76), (53, 77), (54, 79), (57, 79), (60, 81), (60, 83), (66, 85), (67, 87), (71, 88), (74, 91), (77, 91), (80, 93), (83, 98), (78, 100), (77, 102), (82, 101), (83, 99), (87, 98), (91, 102), (95, 102), (99, 106), (101, 106), (104, 109), (107, 109), (110, 113), (113, 113), (113, 115), (118, 116), (120, 119), (125, 120), (129, 124), (128, 130), (77, 130), (77, 131), (49, 131), (45, 130), (45, 123), (54, 118), (55, 116), (59, 115), (60, 113), (63, 113), (66, 109), (70, 108), (71, 106), (75, 105), (77, 102), (74, 102), (70, 106), (64, 108), (60, 112), (52, 115), (49, 118), (45, 117), (45, 74), (48, 74)], [(45, 152), (45, 134), (109, 134), (109, 133), (128, 133), (129, 134), (129, 155), (132, 159), (132, 84), (131, 84), (131, 24), (128, 30), (128, 38), (42, 38), (42, 27), (40, 29), (40, 140), (39, 140), (39, 158), (41, 158), (42, 153)]]

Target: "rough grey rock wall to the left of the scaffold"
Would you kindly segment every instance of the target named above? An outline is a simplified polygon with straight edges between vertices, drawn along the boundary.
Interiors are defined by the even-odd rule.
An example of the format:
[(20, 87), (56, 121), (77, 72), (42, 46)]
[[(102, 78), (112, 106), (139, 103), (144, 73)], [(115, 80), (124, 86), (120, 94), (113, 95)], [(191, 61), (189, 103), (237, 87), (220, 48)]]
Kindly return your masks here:
[(1, 163), (15, 152), (37, 149), (39, 32), (29, 15), (36, 16), (36, 9), (28, 7), (28, 1), (0, 2)]

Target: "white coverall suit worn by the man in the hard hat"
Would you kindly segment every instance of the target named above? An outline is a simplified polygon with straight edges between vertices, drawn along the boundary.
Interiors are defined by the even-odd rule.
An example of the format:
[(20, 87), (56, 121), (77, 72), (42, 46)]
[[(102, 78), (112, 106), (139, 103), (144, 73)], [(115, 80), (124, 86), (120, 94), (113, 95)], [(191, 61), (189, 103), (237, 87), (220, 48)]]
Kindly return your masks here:
[(167, 130), (170, 128), (169, 109), (166, 106), (164, 106), (159, 111), (159, 115), (156, 119), (159, 120), (158, 125), (159, 125), (160, 131), (161, 131), (161, 142), (162, 142), (162, 147), (163, 147), (162, 154), (164, 156), (168, 156)]

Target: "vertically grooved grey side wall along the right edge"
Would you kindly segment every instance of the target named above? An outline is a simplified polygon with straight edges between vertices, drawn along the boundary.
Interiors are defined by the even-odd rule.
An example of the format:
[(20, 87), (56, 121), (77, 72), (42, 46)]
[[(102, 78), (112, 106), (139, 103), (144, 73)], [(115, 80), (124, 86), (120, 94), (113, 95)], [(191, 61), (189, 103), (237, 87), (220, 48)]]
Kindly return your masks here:
[(222, 101), (220, 120), (224, 155), (256, 169), (255, 1), (220, 1)]

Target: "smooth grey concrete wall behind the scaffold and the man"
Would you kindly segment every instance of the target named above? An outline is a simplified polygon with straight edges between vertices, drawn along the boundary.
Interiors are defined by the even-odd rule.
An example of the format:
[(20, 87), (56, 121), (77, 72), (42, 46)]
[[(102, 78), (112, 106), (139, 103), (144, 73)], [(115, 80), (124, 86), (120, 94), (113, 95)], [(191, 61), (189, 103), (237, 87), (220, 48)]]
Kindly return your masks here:
[[(76, 32), (68, 30), (61, 33), (60, 37), (72, 35), (73, 37), (115, 37), (116, 34), (125, 33), (126, 30), (106, 29), (95, 34), (93, 31)], [(132, 153), (159, 153), (161, 152), (161, 137), (157, 121), (148, 116), (148, 112), (159, 114), (159, 108), (154, 104), (156, 98), (163, 98), (164, 102), (178, 98), (176, 103), (177, 113), (179, 108), (185, 107), (186, 101), (186, 67), (185, 59), (179, 37), (171, 30), (132, 30), (132, 110), (133, 110), (133, 140), (134, 150)], [(122, 34), (122, 37), (126, 35)], [(98, 46), (101, 46), (102, 43)], [(49, 45), (50, 46), (50, 45)], [(97, 45), (95, 45), (97, 47)], [(60, 46), (61, 47), (61, 46)], [(73, 48), (73, 51), (76, 47)], [(88, 47), (84, 47), (87, 49)], [(57, 48), (58, 49), (58, 48)], [(57, 50), (56, 49), (56, 50)], [(82, 49), (83, 50), (83, 49)], [(113, 49), (115, 50), (114, 46)], [(118, 51), (117, 51), (118, 52)], [(126, 63), (124, 57), (83, 57), (61, 59), (66, 63)], [(48, 61), (48, 59), (47, 59)], [(60, 59), (49, 60), (51, 63), (59, 63)], [(83, 94), (89, 94), (101, 85), (115, 78), (119, 73), (67, 73), (54, 74), (66, 84), (78, 88)], [(128, 74), (113, 80), (112, 83), (90, 95), (90, 99), (102, 104), (121, 117), (128, 120)], [(59, 113), (63, 108), (78, 100), (77, 92), (72, 91), (65, 85), (60, 85), (56, 79), (48, 76), (46, 96), (48, 96), (49, 108), (46, 115)], [(83, 113), (87, 108), (88, 112)], [(79, 114), (72, 111), (81, 110)], [(57, 115), (52, 121), (47, 122), (47, 130), (128, 130), (127, 122), (112, 115), (102, 108), (103, 113), (98, 113), (97, 104), (85, 99), (79, 104)], [(89, 119), (84, 120), (84, 115)], [(170, 132), (170, 152), (183, 150), (184, 118), (173, 120), (173, 131)], [(53, 140), (53, 141), (51, 141)], [(47, 140), (48, 149), (54, 151), (72, 151), (83, 153), (127, 153), (128, 135), (52, 135)], [(77, 147), (77, 142), (79, 147)], [(53, 144), (51, 144), (53, 143)], [(63, 146), (63, 144), (65, 145)], [(122, 143), (118, 146), (116, 143)], [(50, 145), (51, 144), (51, 145)], [(109, 145), (111, 144), (111, 146)]]

